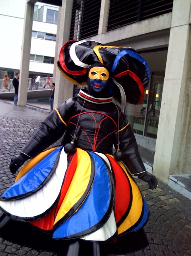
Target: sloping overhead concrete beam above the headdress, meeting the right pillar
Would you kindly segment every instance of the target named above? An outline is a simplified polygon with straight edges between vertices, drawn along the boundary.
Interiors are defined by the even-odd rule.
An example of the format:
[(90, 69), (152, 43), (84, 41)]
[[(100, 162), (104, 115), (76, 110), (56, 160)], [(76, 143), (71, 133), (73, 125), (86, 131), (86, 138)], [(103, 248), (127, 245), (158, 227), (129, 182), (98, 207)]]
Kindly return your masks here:
[[(150, 42), (150, 39), (152, 39), (152, 41), (154, 42), (155, 40), (158, 40), (159, 36), (163, 37), (161, 38), (161, 42), (158, 42), (159, 44), (168, 44), (167, 41), (169, 40), (168, 34), (170, 27), (171, 12), (163, 14), (161, 16), (150, 18), (148, 20), (142, 20), (140, 22), (136, 22), (121, 28), (116, 28), (104, 34), (92, 36), (89, 39), (96, 40), (98, 42), (101, 42), (102, 44), (109, 44), (114, 46), (118, 46), (118, 44), (122, 45), (124, 42), (134, 42), (134, 44), (136, 43), (138, 45), (136, 49), (143, 49), (144, 47), (146, 47), (146, 44), (152, 44), (152, 42)], [(120, 40), (118, 40), (118, 38), (120, 38)], [(145, 46), (141, 46), (141, 44), (144, 42), (142, 39), (144, 39), (144, 41), (146, 42)], [(165, 42), (163, 42), (163, 39), (165, 39)], [(157, 41), (154, 45), (158, 45)], [(146, 48), (148, 47), (149, 46), (147, 46)], [(153, 45), (151, 45), (150, 47), (153, 47)]]

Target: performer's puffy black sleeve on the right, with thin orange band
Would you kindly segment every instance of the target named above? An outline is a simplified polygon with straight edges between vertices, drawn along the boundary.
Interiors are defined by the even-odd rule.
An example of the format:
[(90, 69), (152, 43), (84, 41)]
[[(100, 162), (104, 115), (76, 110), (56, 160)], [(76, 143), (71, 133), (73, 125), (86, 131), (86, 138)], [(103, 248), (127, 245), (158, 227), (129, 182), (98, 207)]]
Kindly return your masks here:
[(120, 150), (125, 154), (124, 163), (132, 174), (145, 171), (145, 166), (142, 162), (136, 138), (130, 123), (126, 120), (126, 116), (121, 112), (120, 127), (119, 127)]

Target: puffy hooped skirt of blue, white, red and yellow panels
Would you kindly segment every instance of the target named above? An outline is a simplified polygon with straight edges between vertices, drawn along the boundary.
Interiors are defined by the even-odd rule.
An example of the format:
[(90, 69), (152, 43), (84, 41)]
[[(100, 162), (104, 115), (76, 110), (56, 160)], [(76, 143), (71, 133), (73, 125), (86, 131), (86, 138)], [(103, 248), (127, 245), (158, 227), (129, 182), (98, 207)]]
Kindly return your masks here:
[(109, 154), (46, 150), (24, 165), (0, 207), (0, 236), (35, 250), (58, 253), (75, 240), (83, 248), (102, 243), (106, 255), (148, 246), (148, 206), (127, 168)]

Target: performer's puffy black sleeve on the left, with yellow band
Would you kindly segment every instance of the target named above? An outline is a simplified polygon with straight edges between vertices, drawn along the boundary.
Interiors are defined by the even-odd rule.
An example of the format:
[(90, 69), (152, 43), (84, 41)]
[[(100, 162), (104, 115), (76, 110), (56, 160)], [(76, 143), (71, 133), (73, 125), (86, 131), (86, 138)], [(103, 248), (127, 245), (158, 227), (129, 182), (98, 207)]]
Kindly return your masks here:
[(23, 148), (22, 152), (28, 156), (34, 157), (61, 138), (67, 128), (66, 116), (69, 118), (69, 109), (65, 102), (57, 109), (55, 108), (55, 110), (41, 122), (37, 131)]

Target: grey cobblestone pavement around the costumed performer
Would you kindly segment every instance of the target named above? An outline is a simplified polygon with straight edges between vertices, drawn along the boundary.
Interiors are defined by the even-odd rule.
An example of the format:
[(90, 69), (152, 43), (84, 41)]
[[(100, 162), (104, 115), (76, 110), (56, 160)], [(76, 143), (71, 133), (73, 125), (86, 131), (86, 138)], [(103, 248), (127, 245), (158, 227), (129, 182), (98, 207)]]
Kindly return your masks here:
[[(1, 104), (0, 104), (1, 105)], [(3, 104), (6, 107), (6, 104)], [(25, 111), (25, 108), (22, 108)], [(31, 110), (33, 111), (33, 110)], [(18, 155), (41, 120), (27, 116), (6, 116), (0, 111), (0, 193), (14, 182), (9, 171), (10, 158)], [(42, 120), (45, 114), (42, 114)], [(150, 245), (128, 256), (189, 256), (191, 255), (191, 201), (159, 181), (155, 190), (148, 190), (137, 179), (149, 207), (150, 219), (145, 231)], [(52, 252), (35, 251), (0, 238), (0, 256), (55, 256)]]

